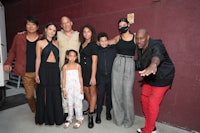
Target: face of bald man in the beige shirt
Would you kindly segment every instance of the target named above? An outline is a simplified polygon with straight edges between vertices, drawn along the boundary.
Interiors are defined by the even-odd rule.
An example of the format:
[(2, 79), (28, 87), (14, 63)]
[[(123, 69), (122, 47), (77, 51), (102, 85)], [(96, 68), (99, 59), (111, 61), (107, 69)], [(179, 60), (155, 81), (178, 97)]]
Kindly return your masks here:
[(65, 32), (70, 32), (72, 30), (72, 25), (73, 23), (69, 18), (63, 17), (61, 19), (61, 27)]

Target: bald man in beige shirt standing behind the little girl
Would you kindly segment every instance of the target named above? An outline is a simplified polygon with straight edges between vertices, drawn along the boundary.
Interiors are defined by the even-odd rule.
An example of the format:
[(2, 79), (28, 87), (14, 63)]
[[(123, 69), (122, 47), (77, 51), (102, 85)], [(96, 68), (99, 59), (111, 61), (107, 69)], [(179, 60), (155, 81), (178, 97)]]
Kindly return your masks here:
[[(61, 18), (61, 31), (58, 31), (57, 33), (57, 40), (59, 43), (59, 66), (60, 69), (62, 69), (62, 66), (65, 63), (65, 55), (66, 51), (69, 49), (74, 49), (79, 53), (79, 47), (80, 47), (80, 42), (79, 42), (79, 32), (74, 31), (72, 29), (73, 22), (71, 21), (70, 18), (63, 16)], [(67, 102), (66, 99), (63, 98), (62, 100), (62, 105), (63, 105), (63, 111), (65, 113), (64, 115), (64, 120), (67, 117), (68, 113), (68, 108), (67, 108)]]

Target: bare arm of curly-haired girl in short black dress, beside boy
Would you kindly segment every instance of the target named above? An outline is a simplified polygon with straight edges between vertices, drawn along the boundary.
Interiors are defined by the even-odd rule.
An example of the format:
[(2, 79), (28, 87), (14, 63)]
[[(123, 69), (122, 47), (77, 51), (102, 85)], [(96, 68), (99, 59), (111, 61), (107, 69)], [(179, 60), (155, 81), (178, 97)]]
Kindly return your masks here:
[(92, 74), (90, 79), (90, 85), (96, 85), (97, 60), (97, 55), (92, 55)]

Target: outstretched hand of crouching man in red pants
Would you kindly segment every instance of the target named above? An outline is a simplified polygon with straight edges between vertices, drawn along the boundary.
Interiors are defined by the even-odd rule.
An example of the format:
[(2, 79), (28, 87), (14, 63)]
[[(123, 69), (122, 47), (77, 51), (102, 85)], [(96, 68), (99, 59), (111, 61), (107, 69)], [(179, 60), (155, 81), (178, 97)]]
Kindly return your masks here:
[(147, 67), (146, 69), (139, 71), (140, 76), (145, 77), (145, 76), (149, 76), (150, 74), (156, 74), (157, 72), (157, 66), (156, 64), (151, 64), (149, 67)]

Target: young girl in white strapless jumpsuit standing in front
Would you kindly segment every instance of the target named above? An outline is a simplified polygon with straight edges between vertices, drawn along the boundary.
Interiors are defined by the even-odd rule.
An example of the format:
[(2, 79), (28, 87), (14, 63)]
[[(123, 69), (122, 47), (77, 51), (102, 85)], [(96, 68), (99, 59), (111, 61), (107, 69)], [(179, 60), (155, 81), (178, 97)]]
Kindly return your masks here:
[(78, 53), (72, 49), (66, 51), (66, 61), (62, 68), (62, 91), (68, 104), (68, 117), (64, 128), (68, 128), (72, 123), (74, 108), (77, 122), (73, 128), (79, 128), (83, 120), (83, 79), (81, 66), (78, 64)]

